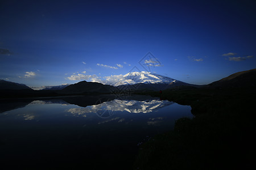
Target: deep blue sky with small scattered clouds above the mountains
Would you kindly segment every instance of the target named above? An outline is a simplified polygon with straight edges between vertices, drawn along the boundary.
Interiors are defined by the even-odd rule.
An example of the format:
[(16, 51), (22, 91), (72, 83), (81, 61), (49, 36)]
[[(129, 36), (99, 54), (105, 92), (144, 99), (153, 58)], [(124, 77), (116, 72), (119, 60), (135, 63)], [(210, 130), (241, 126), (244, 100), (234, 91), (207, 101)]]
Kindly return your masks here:
[(256, 66), (255, 1), (1, 1), (0, 19), (0, 79), (27, 86), (134, 68), (208, 84)]

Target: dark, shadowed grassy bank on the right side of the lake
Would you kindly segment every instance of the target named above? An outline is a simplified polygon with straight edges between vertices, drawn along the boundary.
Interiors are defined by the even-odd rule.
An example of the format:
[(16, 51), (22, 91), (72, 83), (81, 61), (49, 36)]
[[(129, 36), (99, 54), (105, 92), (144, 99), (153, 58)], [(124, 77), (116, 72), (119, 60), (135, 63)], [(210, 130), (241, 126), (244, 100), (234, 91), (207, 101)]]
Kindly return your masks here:
[(196, 88), (139, 94), (191, 105), (195, 118), (181, 118), (173, 131), (144, 143), (134, 169), (254, 167), (254, 88)]

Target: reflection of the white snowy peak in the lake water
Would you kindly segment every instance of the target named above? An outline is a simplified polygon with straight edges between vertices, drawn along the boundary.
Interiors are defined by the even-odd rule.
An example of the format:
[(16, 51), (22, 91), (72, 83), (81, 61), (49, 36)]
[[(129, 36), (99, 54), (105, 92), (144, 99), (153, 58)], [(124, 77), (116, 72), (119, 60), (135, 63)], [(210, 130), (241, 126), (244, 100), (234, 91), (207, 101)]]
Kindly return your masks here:
[[(166, 107), (167, 105), (173, 104), (174, 102), (168, 100), (112, 100), (106, 101), (98, 105), (90, 105), (85, 108), (72, 108), (68, 109), (67, 112), (84, 116), (86, 113), (97, 113), (99, 116), (107, 112), (109, 116), (113, 112), (126, 111), (129, 113), (149, 113), (156, 109)], [(109, 117), (108, 116), (108, 117)], [(103, 116), (104, 117), (104, 116)]]

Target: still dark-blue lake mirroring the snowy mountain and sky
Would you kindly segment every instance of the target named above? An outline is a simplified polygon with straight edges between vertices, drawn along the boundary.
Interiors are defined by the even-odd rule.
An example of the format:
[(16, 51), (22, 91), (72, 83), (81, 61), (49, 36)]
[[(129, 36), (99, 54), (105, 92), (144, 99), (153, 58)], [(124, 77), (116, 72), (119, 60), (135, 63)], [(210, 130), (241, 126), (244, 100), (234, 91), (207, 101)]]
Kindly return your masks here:
[(150, 96), (80, 96), (0, 102), (1, 165), (131, 169), (138, 147), (174, 128), (191, 107)]

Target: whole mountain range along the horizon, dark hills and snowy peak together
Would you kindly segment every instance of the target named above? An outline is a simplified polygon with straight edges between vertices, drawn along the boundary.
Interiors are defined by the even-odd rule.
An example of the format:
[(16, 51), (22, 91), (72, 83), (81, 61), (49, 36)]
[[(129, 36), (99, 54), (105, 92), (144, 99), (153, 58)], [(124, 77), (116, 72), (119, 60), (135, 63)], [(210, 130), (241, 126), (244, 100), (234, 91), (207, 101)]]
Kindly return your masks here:
[[(256, 87), (256, 69), (241, 71), (232, 74), (226, 78), (218, 80), (216, 82), (199, 86), (195, 84), (184, 83), (176, 79), (168, 78), (158, 74), (152, 74), (146, 71), (127, 73), (118, 77), (117, 80), (112, 81), (112, 84), (102, 84), (96, 82), (82, 81), (75, 84), (64, 84), (60, 86), (46, 86), (43, 90), (33, 91), (25, 84), (19, 84), (14, 82), (7, 82), (0, 80), (0, 90), (3, 96), (7, 97), (9, 92), (12, 94), (25, 94), (29, 95), (70, 95), (70, 94), (108, 94), (120, 91), (143, 91), (143, 90), (166, 90), (169, 88), (245, 88)], [(6, 91), (7, 90), (7, 91)], [(11, 91), (19, 90), (19, 91)]]

